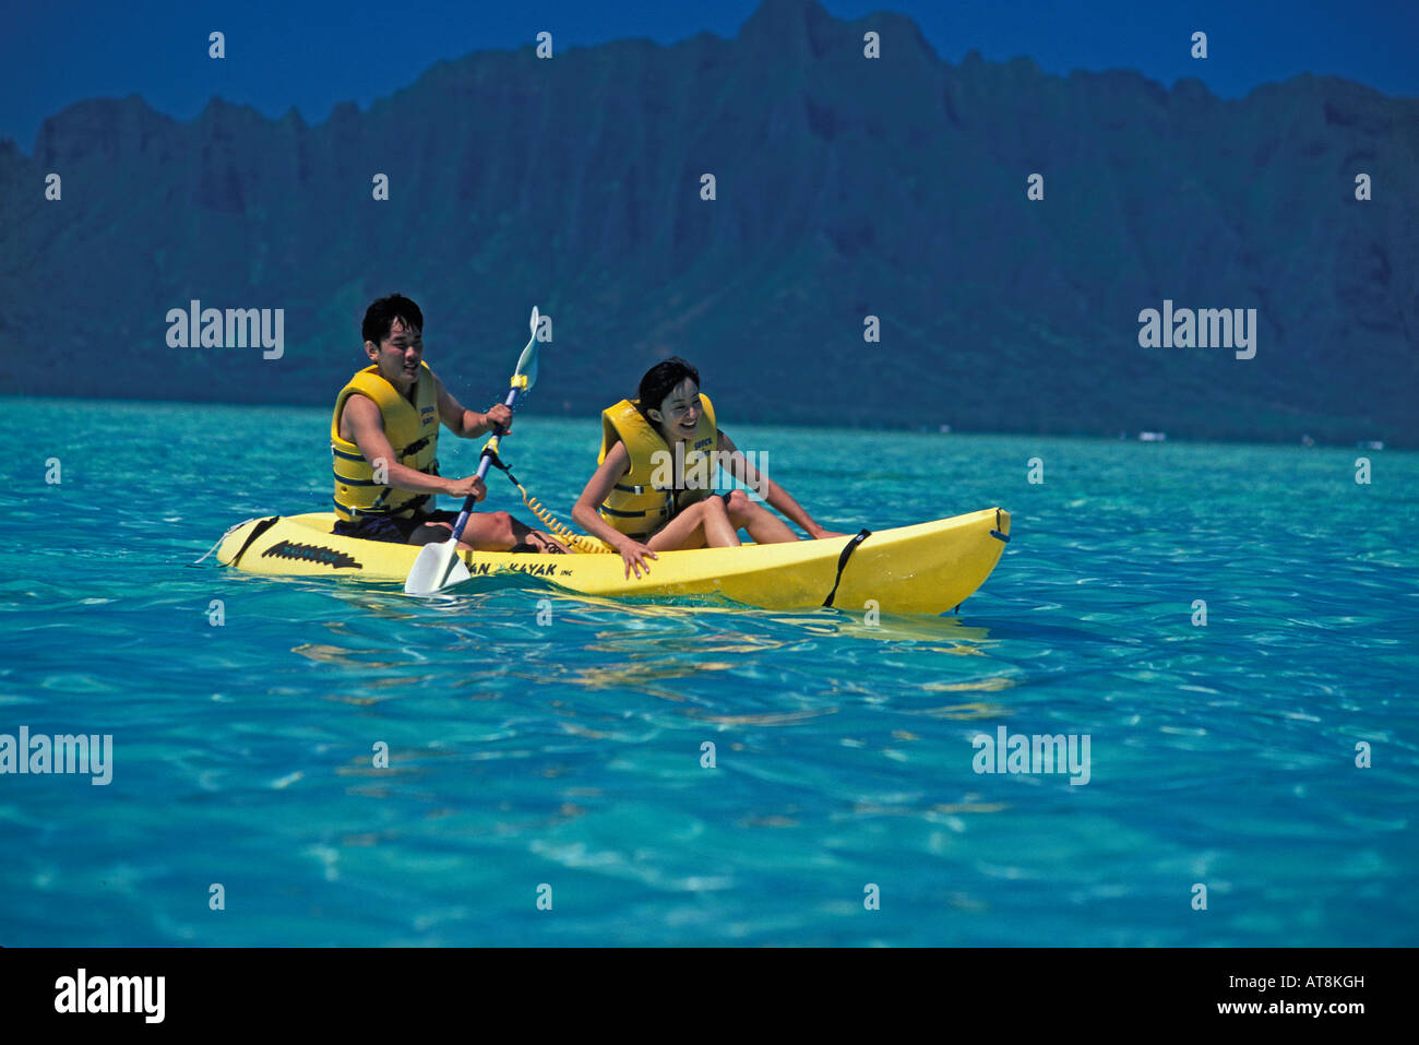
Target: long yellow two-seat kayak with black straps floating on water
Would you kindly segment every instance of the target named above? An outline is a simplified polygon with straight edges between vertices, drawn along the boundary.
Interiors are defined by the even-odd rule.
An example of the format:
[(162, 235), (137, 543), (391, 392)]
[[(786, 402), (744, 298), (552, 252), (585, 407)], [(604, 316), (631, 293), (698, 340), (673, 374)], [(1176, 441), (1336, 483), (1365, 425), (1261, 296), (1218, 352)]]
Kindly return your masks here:
[[(338, 537), (333, 525), (333, 513), (247, 520), (227, 531), (217, 559), (251, 574), (403, 584), (419, 557), (417, 545)], [(874, 601), (883, 613), (944, 613), (985, 582), (1009, 535), (1010, 514), (986, 508), (878, 530), (860, 541), (830, 537), (663, 551), (640, 578), (626, 578), (620, 555), (610, 554), (458, 555), (474, 578), (526, 574), (585, 595), (722, 595), (765, 609), (833, 605), (860, 611)]]

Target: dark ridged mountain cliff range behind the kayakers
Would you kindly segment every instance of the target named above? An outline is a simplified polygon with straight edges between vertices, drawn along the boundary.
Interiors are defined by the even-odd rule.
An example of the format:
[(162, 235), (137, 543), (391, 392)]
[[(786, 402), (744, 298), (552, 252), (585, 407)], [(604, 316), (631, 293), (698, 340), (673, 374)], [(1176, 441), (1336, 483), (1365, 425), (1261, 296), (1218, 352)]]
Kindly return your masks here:
[[(477, 407), (536, 304), (536, 412), (589, 416), (678, 354), (731, 430), (1416, 444), (1416, 230), (1419, 99), (951, 65), (900, 16), (768, 0), (734, 40), (471, 54), (316, 126), (70, 106), (33, 156), (0, 143), (0, 392), (333, 402), (397, 290)], [(170, 348), (193, 298), (282, 308), (284, 355)], [(1254, 308), (1256, 356), (1141, 348), (1165, 300)]]

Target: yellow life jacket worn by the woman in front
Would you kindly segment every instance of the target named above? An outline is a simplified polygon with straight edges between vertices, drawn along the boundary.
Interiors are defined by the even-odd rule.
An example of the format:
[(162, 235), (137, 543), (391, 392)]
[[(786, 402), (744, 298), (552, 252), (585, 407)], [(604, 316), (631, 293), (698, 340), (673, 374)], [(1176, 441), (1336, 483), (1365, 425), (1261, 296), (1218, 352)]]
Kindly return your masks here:
[[(712, 476), (708, 454), (718, 449), (714, 406), (704, 392), (700, 393), (695, 436), (678, 461), (656, 426), (646, 420), (639, 402), (622, 399), (602, 410), (602, 452), (596, 457), (597, 464), (604, 461), (616, 440), (624, 443), (630, 453), (630, 469), (616, 481), (600, 507), (602, 518), (630, 537), (651, 534), (694, 501), (710, 496)], [(663, 459), (657, 452), (671, 456)], [(668, 473), (666, 467), (657, 467), (663, 460), (670, 463)], [(670, 484), (664, 483), (666, 478), (671, 480)]]

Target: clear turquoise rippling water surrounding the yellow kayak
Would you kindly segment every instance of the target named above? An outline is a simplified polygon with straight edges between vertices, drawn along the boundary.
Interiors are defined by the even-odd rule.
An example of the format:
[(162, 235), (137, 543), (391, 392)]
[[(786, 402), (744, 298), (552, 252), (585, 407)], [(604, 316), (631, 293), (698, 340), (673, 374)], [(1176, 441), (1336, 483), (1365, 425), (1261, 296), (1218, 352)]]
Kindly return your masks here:
[[(729, 425), (839, 530), (1013, 514), (959, 616), (870, 626), (193, 567), (324, 508), (328, 415), (4, 407), (0, 733), (114, 768), (0, 775), (0, 944), (1419, 943), (1413, 453)], [(565, 515), (596, 439), (505, 450)], [(976, 774), (1000, 726), (1088, 782)]]

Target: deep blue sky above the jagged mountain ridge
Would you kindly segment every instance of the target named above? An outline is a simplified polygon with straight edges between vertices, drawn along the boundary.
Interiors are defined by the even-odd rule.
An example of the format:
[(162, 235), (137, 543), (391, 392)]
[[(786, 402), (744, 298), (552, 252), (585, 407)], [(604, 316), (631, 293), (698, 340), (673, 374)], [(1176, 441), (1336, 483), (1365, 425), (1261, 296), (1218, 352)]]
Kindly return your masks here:
[[(907, 14), (937, 53), (979, 50), (1034, 58), (1049, 72), (1132, 68), (1171, 85), (1199, 77), (1236, 98), (1301, 72), (1340, 75), (1386, 94), (1419, 97), (1419, 0), (820, 0), (840, 18)], [(525, 3), (34, 3), (13, 6), (0, 33), (0, 136), (28, 152), (41, 121), (75, 101), (139, 94), (179, 119), (211, 95), (278, 116), (292, 105), (321, 122), (339, 101), (362, 108), (407, 85), (430, 64), (470, 51), (529, 44), (541, 30), (558, 48), (624, 37), (671, 43), (708, 30), (732, 37), (759, 0)], [(227, 58), (207, 58), (207, 34), (227, 35)], [(1189, 57), (1203, 30), (1209, 57)]]

